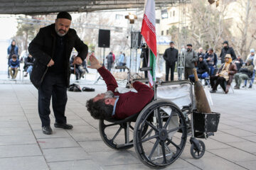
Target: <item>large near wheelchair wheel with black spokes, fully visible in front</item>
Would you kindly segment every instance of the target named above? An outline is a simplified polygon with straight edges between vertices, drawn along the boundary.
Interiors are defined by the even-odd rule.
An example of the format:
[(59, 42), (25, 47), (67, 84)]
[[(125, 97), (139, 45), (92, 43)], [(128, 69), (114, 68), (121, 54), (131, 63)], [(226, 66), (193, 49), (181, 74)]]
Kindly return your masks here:
[[(148, 125), (145, 132), (144, 127)], [(134, 148), (141, 161), (161, 169), (178, 159), (186, 145), (187, 128), (183, 113), (170, 101), (149, 103), (134, 127)]]

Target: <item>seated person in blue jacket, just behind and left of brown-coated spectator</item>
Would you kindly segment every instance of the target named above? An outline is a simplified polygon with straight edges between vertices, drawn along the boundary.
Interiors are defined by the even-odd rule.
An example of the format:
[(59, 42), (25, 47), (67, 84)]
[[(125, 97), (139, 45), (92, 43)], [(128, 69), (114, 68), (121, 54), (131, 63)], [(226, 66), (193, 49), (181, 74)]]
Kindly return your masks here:
[(206, 59), (208, 67), (210, 68), (210, 76), (213, 76), (214, 69), (217, 68), (218, 62), (217, 55), (213, 52), (213, 48), (210, 48), (203, 58)]

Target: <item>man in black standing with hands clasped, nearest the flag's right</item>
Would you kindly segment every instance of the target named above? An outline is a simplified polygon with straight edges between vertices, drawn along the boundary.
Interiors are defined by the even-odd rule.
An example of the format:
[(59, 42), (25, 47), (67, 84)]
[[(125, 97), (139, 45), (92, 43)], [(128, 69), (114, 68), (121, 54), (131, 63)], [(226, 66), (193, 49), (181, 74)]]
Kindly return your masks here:
[(174, 42), (170, 42), (170, 47), (164, 52), (164, 60), (166, 61), (166, 81), (169, 79), (169, 72), (171, 69), (171, 81), (174, 81), (174, 69), (176, 61), (178, 61), (178, 50), (174, 48)]

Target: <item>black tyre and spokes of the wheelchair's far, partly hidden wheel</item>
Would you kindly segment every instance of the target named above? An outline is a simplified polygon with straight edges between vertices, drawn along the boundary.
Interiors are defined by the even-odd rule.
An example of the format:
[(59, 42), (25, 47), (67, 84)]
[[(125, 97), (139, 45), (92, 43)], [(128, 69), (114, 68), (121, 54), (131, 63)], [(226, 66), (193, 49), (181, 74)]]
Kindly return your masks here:
[[(119, 144), (119, 143), (115, 142), (114, 140), (110, 139), (109, 137), (107, 137), (107, 134), (105, 133), (105, 129), (108, 128), (108, 127), (114, 126), (114, 125), (119, 125), (119, 124), (111, 123), (112, 125), (107, 127), (105, 125), (105, 122), (107, 122), (107, 121), (106, 120), (99, 120), (99, 131), (100, 131), (100, 137), (102, 138), (103, 142), (105, 142), (105, 144), (108, 147), (110, 147), (112, 149), (117, 149), (117, 150), (125, 150), (125, 149), (129, 149), (129, 148), (133, 147), (133, 143), (132, 143), (133, 141), (132, 140), (130, 140), (130, 142), (132, 143), (131, 145), (124, 145), (124, 143)], [(120, 130), (123, 130), (124, 127), (125, 127), (124, 123), (122, 123), (122, 125), (119, 125)], [(117, 132), (118, 132), (119, 129), (117, 129)], [(116, 132), (116, 134), (118, 136), (119, 133), (117, 133), (117, 132)]]

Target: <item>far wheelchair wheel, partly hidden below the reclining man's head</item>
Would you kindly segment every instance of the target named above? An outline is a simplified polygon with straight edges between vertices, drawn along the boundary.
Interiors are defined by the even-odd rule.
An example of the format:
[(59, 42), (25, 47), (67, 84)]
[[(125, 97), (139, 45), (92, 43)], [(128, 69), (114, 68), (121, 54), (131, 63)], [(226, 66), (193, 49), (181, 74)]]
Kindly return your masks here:
[[(99, 121), (100, 137), (105, 144), (117, 150), (124, 150), (133, 147), (133, 141), (127, 142), (127, 123), (110, 123), (106, 120)], [(132, 135), (134, 128), (129, 125), (129, 133)], [(132, 131), (132, 132), (131, 132)]]

